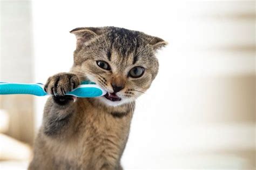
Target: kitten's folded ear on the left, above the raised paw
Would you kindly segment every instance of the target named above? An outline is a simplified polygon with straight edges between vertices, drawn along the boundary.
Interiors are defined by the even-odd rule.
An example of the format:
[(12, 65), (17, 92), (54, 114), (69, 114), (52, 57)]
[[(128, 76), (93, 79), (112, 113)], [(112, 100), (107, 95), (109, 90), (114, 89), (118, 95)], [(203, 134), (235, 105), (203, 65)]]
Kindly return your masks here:
[(99, 36), (100, 33), (102, 33), (102, 29), (93, 27), (83, 27), (73, 29), (70, 31), (70, 33), (75, 34), (77, 38), (77, 46), (81, 46), (83, 43), (91, 40), (96, 36)]

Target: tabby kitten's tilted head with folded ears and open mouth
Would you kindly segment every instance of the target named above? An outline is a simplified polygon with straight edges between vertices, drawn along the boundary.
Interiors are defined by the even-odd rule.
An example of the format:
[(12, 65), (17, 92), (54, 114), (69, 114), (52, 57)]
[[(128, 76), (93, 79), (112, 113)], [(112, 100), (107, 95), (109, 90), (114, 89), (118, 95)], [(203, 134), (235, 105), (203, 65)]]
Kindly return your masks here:
[(107, 91), (99, 100), (117, 106), (149, 89), (158, 73), (155, 53), (167, 43), (143, 32), (116, 27), (77, 28), (72, 71)]

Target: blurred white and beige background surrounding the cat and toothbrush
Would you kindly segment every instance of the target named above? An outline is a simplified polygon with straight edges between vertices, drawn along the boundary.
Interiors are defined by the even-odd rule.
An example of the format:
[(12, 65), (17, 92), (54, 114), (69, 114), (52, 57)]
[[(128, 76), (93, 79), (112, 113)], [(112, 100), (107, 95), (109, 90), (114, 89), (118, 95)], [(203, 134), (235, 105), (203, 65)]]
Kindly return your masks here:
[[(69, 71), (77, 27), (169, 42), (138, 99), (125, 169), (255, 169), (255, 1), (0, 1), (0, 9), (0, 81), (45, 83)], [(0, 169), (27, 168), (45, 101), (0, 96)]]

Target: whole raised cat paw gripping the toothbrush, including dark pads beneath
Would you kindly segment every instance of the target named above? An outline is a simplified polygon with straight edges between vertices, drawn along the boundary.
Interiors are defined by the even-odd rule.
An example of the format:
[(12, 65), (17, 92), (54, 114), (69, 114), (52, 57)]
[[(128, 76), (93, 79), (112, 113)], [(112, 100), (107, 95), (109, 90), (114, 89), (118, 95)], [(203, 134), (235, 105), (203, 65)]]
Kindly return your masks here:
[(49, 77), (45, 86), (45, 92), (53, 95), (53, 101), (59, 105), (68, 104), (70, 101), (76, 101), (76, 97), (65, 94), (72, 91), (79, 85), (79, 79), (76, 74), (58, 73)]

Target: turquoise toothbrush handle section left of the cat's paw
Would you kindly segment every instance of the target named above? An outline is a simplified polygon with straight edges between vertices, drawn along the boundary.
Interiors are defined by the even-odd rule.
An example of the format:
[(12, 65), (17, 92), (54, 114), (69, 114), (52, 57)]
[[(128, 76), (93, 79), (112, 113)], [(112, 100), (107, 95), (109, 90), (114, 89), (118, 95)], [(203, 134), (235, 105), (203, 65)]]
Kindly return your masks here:
[(32, 94), (45, 96), (42, 84), (0, 83), (0, 94)]

